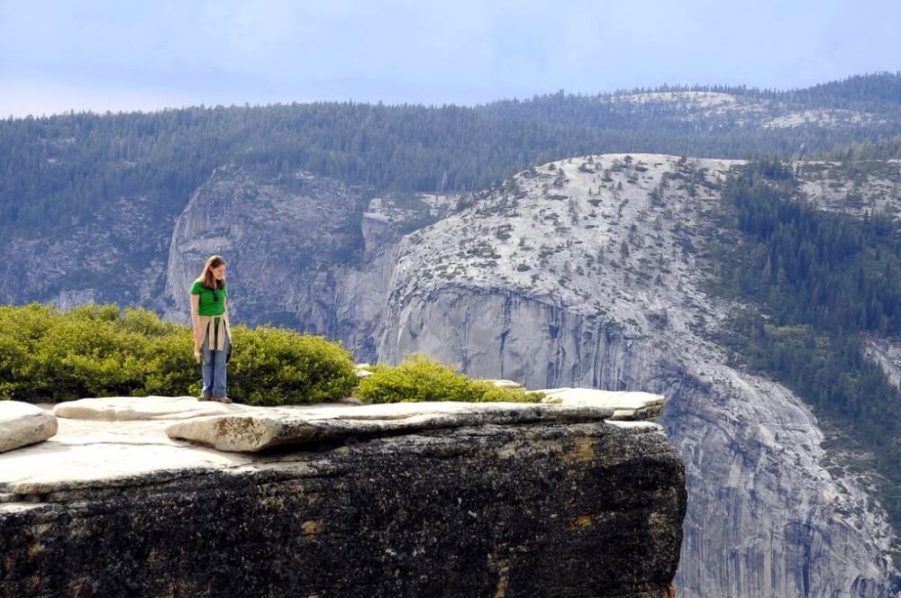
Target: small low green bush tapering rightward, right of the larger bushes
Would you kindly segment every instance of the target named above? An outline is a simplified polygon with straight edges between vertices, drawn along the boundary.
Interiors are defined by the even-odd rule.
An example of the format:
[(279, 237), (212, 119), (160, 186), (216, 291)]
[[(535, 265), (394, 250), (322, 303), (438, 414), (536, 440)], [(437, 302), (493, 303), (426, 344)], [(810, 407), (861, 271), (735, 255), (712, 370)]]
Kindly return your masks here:
[(423, 354), (405, 356), (397, 366), (376, 366), (372, 376), (360, 380), (356, 395), (370, 403), (463, 401), (468, 403), (538, 403), (543, 393), (498, 388), (472, 380)]

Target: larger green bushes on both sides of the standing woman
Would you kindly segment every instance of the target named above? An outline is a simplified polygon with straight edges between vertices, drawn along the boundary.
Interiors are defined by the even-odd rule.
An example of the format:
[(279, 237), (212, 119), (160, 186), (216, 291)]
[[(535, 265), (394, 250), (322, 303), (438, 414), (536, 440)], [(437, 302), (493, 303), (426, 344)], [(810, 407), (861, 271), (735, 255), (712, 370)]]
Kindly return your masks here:
[[(229, 394), (242, 403), (335, 400), (356, 381), (350, 354), (322, 337), (237, 326), (233, 342)], [(141, 309), (0, 305), (0, 398), (199, 394), (193, 343), (189, 327)]]

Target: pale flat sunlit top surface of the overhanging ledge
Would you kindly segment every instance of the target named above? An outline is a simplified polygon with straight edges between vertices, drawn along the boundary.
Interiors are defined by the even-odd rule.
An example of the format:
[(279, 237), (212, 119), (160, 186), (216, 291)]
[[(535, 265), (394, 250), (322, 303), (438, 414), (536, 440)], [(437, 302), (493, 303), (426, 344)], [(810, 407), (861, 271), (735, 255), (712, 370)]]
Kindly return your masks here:
[[(200, 415), (214, 410), (218, 414)], [(79, 488), (114, 488), (135, 479), (229, 471), (283, 459), (323, 441), (411, 434), (425, 430), (569, 425), (607, 421), (595, 405), (542, 403), (325, 403), (284, 407), (209, 404), (193, 397), (109, 397), (60, 403), (58, 433), (41, 444), (0, 454), (0, 503)], [(48, 412), (49, 414), (49, 412)], [(200, 416), (198, 416), (200, 415)], [(123, 417), (123, 421), (114, 421)], [(651, 421), (607, 421), (636, 433), (659, 432)], [(294, 445), (286, 454), (260, 453)], [(299, 451), (299, 452), (298, 452)]]

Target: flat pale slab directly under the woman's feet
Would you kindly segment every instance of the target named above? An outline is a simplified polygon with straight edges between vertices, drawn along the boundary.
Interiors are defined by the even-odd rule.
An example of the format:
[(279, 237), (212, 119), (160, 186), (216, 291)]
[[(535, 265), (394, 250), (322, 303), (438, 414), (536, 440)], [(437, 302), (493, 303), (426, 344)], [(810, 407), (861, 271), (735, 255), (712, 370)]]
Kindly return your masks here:
[(76, 420), (187, 420), (241, 412), (244, 405), (197, 401), (193, 396), (108, 396), (59, 403), (57, 417)]

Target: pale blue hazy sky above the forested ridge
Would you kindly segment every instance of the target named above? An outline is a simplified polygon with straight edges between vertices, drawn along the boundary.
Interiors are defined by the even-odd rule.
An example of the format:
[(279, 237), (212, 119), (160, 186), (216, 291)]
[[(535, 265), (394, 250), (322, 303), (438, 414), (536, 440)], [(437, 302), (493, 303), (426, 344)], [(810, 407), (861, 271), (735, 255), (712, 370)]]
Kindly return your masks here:
[(803, 87), (901, 69), (898, 23), (898, 0), (0, 0), (0, 117)]

